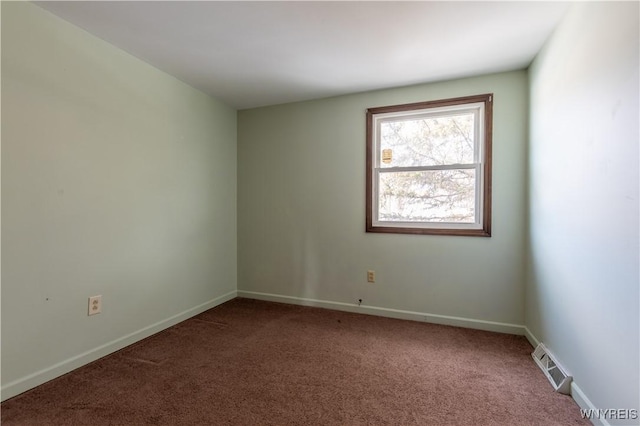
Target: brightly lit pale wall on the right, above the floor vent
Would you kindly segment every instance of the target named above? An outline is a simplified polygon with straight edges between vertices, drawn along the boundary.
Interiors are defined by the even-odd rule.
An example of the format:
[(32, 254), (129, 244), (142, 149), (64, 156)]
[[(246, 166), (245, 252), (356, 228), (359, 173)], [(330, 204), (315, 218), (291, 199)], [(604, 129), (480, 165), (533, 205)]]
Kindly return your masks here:
[(640, 398), (638, 17), (576, 3), (530, 70), (526, 324), (600, 409)]

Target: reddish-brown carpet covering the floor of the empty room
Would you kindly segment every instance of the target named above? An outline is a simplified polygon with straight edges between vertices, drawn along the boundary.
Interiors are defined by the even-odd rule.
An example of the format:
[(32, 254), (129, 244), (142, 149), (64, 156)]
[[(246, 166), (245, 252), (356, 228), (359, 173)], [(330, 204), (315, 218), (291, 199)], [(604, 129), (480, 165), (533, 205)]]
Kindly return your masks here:
[(234, 299), (1, 405), (9, 425), (589, 425), (522, 336)]

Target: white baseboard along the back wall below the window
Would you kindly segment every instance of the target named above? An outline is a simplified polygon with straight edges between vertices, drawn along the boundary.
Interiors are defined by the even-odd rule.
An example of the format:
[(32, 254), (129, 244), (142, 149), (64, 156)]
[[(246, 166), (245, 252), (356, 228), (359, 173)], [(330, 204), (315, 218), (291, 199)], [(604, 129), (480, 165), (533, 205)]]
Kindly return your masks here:
[(378, 306), (357, 305), (355, 303), (332, 302), (327, 300), (307, 299), (303, 297), (284, 296), (280, 294), (259, 293), (255, 291), (238, 290), (238, 297), (266, 300), (269, 302), (289, 303), (293, 305), (315, 306), (318, 308), (334, 309), (337, 311), (354, 312), (381, 317), (405, 319), (434, 324), (453, 325), (456, 327), (473, 328), (476, 330), (495, 331), (498, 333), (525, 334), (523, 325), (508, 324), (494, 321), (484, 321), (471, 318), (453, 317), (448, 315), (429, 314), (424, 312), (403, 311), (400, 309), (381, 308)]

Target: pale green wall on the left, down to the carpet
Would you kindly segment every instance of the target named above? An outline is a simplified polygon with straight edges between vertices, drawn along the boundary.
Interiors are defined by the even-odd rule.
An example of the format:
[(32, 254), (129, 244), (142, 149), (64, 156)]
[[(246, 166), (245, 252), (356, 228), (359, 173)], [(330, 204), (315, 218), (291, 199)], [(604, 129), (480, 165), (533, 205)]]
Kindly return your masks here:
[(236, 241), (236, 111), (2, 2), (2, 397), (235, 295)]

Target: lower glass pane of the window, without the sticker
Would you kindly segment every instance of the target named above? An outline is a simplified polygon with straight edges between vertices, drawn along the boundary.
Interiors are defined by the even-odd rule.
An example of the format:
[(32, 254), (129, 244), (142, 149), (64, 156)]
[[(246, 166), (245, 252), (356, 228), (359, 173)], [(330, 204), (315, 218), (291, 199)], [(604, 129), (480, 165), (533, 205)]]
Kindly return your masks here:
[(380, 173), (378, 220), (475, 222), (475, 169)]

